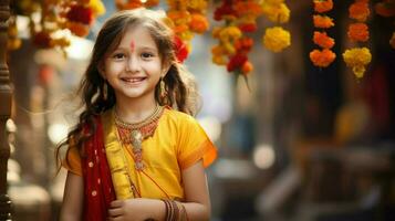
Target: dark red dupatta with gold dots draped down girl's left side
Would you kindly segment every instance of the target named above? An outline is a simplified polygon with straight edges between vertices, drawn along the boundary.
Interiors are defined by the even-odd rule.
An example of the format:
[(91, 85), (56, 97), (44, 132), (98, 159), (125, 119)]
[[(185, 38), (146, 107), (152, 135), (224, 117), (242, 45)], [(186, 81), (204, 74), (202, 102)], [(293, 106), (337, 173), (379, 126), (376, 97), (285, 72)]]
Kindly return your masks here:
[(81, 158), (84, 177), (84, 211), (86, 221), (105, 221), (110, 203), (115, 200), (104, 149), (104, 134), (101, 117), (95, 118), (96, 131), (85, 143), (86, 157)]

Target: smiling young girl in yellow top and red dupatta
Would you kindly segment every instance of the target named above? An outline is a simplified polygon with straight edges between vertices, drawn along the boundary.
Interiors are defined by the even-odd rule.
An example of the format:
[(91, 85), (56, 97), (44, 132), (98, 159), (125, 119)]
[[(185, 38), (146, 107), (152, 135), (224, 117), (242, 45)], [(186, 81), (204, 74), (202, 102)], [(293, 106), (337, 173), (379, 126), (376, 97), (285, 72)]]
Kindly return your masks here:
[(194, 86), (173, 34), (146, 9), (104, 23), (79, 91), (84, 112), (62, 144), (61, 220), (209, 220), (204, 168), (217, 151), (190, 116)]

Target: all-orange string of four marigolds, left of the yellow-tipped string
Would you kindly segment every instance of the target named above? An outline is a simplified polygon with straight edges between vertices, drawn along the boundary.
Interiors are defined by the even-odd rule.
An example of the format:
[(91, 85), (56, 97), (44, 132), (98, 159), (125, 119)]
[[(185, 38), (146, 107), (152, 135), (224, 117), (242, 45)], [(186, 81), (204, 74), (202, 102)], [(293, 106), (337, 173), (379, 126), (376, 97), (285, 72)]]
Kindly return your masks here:
[[(333, 19), (323, 14), (333, 9), (332, 0), (313, 0), (314, 11), (320, 14), (313, 15), (314, 28), (316, 29), (330, 29), (334, 27)], [(314, 31), (313, 34), (314, 44), (319, 45), (322, 50), (314, 49), (310, 52), (310, 61), (313, 65), (319, 67), (329, 66), (335, 59), (336, 54), (331, 51), (335, 41), (330, 38), (325, 31)]]

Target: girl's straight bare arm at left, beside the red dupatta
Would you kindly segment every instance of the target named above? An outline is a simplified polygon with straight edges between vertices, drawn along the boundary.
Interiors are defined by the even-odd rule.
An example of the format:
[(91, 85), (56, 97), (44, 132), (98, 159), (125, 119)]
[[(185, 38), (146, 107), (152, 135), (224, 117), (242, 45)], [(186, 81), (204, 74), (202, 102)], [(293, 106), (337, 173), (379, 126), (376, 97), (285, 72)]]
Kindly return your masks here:
[(81, 220), (83, 189), (82, 177), (69, 171), (64, 186), (63, 204), (60, 214), (61, 221)]

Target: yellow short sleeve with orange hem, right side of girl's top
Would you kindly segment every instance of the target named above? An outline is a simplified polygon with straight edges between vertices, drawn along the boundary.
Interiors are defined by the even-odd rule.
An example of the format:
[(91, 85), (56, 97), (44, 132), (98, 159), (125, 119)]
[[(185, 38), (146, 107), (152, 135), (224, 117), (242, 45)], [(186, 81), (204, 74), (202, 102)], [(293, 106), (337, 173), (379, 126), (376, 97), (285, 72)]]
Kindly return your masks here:
[(180, 168), (186, 169), (200, 159), (204, 167), (211, 165), (217, 158), (217, 149), (199, 123), (185, 115), (179, 122), (179, 128), (177, 156)]

